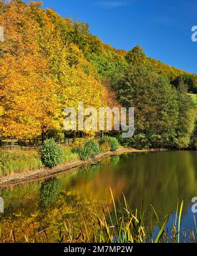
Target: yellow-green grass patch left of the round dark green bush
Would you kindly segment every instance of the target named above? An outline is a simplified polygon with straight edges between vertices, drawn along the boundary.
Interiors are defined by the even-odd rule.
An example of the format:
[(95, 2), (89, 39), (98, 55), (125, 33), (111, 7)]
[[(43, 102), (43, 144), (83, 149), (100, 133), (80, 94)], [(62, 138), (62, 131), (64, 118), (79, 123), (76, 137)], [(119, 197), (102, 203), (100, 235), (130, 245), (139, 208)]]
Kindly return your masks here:
[(43, 167), (39, 152), (36, 150), (1, 150), (0, 175), (8, 175)]

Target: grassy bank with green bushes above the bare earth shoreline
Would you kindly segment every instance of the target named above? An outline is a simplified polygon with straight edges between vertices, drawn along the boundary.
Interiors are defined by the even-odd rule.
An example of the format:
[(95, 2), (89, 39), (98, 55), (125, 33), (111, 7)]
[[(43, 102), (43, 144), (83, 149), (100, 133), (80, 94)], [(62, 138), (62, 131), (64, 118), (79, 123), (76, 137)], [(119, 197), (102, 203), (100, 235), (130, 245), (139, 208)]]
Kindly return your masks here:
[(89, 139), (72, 146), (60, 146), (53, 139), (46, 140), (37, 149), (0, 150), (0, 176), (24, 173), (42, 167), (53, 168), (58, 164), (72, 161), (87, 161), (101, 152), (116, 151), (119, 143), (116, 138), (104, 136), (99, 140)]

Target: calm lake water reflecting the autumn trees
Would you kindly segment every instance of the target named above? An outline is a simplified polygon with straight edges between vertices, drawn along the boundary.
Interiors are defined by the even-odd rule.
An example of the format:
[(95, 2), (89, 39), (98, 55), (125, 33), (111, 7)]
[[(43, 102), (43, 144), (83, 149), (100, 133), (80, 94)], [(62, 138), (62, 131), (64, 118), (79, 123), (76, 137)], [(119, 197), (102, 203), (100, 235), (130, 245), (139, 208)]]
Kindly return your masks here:
[(60, 236), (62, 216), (80, 226), (83, 222), (81, 211), (89, 223), (94, 213), (99, 215), (102, 211), (101, 206), (108, 206), (113, 211), (109, 188), (116, 201), (123, 201), (124, 193), (133, 211), (143, 205), (146, 229), (153, 230), (154, 234), (158, 228), (151, 220), (150, 205), (162, 221), (172, 213), (168, 223), (170, 232), (177, 199), (184, 199), (181, 230), (194, 230), (191, 200), (197, 197), (196, 156), (196, 151), (125, 154), (42, 182), (3, 189), (0, 191), (5, 201), (3, 232), (9, 237), (14, 230), (18, 241), (24, 242), (24, 234), (28, 233), (26, 236), (31, 238), (33, 230), (46, 229), (49, 241), (53, 241)]

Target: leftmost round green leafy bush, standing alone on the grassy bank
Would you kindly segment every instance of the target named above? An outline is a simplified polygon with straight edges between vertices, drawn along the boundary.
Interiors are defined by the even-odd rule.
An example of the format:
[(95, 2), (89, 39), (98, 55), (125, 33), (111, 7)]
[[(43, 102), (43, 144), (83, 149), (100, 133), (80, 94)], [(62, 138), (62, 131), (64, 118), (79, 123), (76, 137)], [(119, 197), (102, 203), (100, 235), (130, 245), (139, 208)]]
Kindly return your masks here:
[(45, 140), (41, 147), (41, 155), (43, 164), (49, 168), (62, 162), (62, 149), (54, 139)]

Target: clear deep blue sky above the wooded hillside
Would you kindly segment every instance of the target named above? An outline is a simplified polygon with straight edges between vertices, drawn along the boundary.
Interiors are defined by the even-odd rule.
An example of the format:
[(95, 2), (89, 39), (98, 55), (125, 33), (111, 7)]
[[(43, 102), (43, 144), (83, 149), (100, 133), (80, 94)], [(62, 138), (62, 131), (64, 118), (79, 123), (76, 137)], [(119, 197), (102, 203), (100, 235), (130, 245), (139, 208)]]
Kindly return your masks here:
[(197, 73), (197, 0), (43, 0), (44, 8), (87, 22), (104, 43), (129, 50), (140, 44), (148, 57)]

